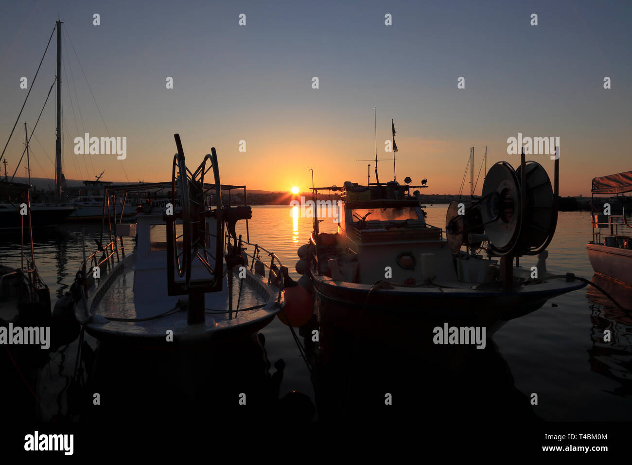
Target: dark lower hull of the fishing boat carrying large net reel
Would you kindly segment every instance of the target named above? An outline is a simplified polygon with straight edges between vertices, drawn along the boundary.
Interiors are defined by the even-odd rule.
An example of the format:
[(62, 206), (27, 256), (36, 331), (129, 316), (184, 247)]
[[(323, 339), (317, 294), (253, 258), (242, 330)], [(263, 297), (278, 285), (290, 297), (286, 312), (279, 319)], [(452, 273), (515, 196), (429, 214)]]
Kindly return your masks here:
[[(377, 288), (313, 276), (314, 311), (320, 326), (364, 328), (384, 338), (405, 340), (436, 326), (484, 326), (490, 337), (507, 321), (542, 307), (547, 300), (585, 287), (552, 279), (515, 292), (499, 288)], [(430, 333), (432, 335), (432, 333)], [(413, 337), (415, 344), (419, 338)]]

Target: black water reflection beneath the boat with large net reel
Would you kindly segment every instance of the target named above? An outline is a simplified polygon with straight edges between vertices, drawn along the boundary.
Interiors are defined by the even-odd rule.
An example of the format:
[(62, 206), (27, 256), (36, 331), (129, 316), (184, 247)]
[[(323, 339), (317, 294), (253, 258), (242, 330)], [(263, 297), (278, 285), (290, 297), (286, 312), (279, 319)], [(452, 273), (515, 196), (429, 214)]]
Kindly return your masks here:
[(454, 354), (402, 352), (396, 341), (384, 344), (341, 328), (320, 334), (311, 347), (319, 419), (538, 419), (492, 340), (482, 350), (460, 347), (465, 363), (454, 364)]

